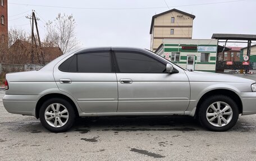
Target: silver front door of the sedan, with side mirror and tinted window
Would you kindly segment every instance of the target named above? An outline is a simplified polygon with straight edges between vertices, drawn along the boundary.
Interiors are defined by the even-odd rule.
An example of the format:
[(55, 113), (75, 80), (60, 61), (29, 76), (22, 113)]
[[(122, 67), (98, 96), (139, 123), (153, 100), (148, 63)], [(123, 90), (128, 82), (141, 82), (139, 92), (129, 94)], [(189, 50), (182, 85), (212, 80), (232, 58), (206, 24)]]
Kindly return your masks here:
[(183, 70), (166, 73), (166, 62), (152, 53), (112, 48), (118, 84), (117, 112), (184, 112), (190, 85)]

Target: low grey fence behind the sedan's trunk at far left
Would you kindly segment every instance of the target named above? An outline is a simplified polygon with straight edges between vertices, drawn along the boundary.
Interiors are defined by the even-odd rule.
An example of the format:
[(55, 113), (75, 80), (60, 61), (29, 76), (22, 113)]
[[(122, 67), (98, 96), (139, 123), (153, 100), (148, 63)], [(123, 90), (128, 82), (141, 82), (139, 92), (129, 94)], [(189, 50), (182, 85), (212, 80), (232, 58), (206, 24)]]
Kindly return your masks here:
[(0, 73), (10, 73), (10, 72), (22, 72), (22, 71), (35, 71), (42, 68), (44, 65), (13, 65), (13, 64), (1, 64), (0, 63)]

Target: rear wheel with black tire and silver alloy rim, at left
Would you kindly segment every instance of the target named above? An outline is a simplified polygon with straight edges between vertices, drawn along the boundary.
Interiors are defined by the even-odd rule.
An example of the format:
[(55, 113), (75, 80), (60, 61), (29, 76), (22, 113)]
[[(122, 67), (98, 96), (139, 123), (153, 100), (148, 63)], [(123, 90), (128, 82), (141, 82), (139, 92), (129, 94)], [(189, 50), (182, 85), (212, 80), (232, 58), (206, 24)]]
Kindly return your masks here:
[(74, 107), (65, 99), (52, 98), (46, 100), (39, 111), (42, 125), (52, 132), (65, 132), (75, 122)]

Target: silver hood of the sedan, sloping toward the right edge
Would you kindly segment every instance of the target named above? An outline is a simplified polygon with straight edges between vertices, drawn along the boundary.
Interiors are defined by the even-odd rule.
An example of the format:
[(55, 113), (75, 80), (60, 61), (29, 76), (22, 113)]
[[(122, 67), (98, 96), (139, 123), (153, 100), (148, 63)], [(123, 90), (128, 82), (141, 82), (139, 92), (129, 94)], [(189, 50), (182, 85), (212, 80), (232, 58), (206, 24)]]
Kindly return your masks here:
[(189, 81), (211, 81), (211, 82), (240, 82), (240, 83), (255, 83), (254, 80), (245, 79), (238, 76), (225, 75), (221, 73), (211, 73), (202, 71), (185, 71)]

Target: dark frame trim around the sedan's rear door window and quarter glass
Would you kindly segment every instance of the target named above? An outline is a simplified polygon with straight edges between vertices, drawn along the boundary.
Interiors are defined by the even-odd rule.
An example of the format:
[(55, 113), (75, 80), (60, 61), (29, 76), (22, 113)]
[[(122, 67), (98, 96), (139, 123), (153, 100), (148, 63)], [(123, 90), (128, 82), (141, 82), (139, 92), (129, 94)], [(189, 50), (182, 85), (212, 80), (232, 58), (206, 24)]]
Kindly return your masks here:
[[(79, 54), (90, 54), (90, 53), (108, 53), (109, 54), (109, 61), (110, 61), (110, 66), (111, 66), (111, 72), (84, 72), (84, 71), (78, 71), (78, 57), (77, 55)], [(64, 63), (68, 58), (75, 56), (76, 58), (76, 71), (62, 71), (60, 69), (60, 66), (62, 65), (62, 63)], [(67, 72), (67, 73), (115, 73), (115, 67), (113, 66), (113, 56), (111, 53), (111, 50), (93, 50), (93, 51), (81, 51), (78, 53), (73, 54), (72, 56), (68, 57), (65, 59), (65, 61), (63, 61), (59, 66), (58, 66), (58, 70), (62, 71), (62, 72)]]

